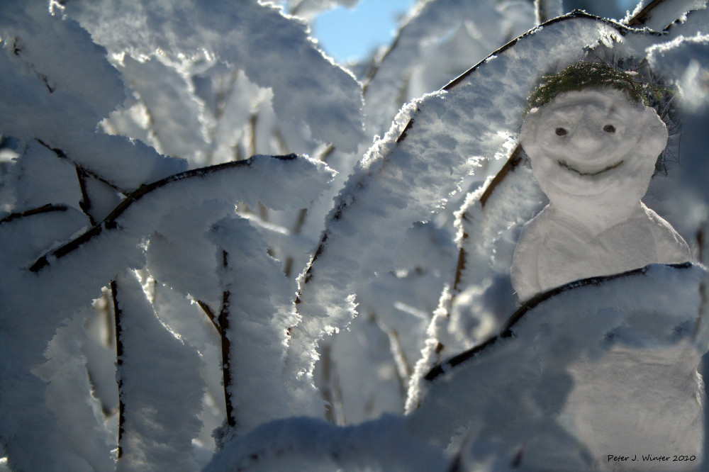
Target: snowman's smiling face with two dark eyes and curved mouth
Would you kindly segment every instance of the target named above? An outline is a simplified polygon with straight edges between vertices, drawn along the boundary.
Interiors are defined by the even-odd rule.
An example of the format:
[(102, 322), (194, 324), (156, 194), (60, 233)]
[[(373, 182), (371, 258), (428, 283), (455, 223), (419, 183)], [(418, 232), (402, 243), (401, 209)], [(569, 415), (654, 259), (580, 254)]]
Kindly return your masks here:
[(520, 137), (549, 200), (639, 200), (667, 142), (657, 113), (615, 89), (560, 94), (527, 115)]

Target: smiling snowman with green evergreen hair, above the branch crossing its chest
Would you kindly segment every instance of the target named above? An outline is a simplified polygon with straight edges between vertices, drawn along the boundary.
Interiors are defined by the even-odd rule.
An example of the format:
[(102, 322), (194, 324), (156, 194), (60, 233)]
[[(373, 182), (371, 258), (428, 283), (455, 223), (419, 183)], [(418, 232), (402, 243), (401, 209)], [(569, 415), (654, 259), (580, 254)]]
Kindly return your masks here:
[(530, 96), (520, 142), (549, 198), (515, 249), (512, 284), (527, 300), (592, 276), (679, 264), (689, 248), (640, 201), (667, 129), (632, 74), (579, 62)]

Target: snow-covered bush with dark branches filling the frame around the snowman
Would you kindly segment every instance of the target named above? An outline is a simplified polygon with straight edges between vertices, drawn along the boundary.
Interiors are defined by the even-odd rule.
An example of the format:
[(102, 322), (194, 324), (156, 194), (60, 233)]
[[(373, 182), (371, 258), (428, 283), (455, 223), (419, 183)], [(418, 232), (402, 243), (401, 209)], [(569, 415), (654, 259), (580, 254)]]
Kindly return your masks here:
[[(637, 452), (700, 467), (703, 269), (520, 307), (510, 264), (545, 203), (518, 146), (527, 95), (590, 56), (681, 91), (657, 103), (679, 108), (679, 163), (644, 201), (705, 262), (705, 2), (645, 0), (613, 21), (555, 18), (560, 1), (420, 0), (359, 77), (308, 30), (356, 1), (281, 3), (301, 16), (3, 2), (1, 466), (581, 470)], [(669, 405), (691, 423), (618, 434), (659, 431), (671, 449), (607, 451), (637, 442), (584, 429), (618, 355), (635, 359), (626, 418)]]

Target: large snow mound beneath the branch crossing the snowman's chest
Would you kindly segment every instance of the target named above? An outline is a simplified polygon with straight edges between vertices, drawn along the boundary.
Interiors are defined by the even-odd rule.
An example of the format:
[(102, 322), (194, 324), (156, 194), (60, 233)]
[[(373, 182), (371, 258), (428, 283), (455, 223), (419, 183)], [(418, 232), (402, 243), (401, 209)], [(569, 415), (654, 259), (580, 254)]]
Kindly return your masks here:
[[(698, 470), (706, 339), (694, 328), (704, 278), (698, 266), (655, 265), (565, 286), (508, 335), (429, 376), (411, 430), (464, 449), (466, 470), (515, 461), (530, 471)], [(487, 468), (495, 461), (501, 468)]]

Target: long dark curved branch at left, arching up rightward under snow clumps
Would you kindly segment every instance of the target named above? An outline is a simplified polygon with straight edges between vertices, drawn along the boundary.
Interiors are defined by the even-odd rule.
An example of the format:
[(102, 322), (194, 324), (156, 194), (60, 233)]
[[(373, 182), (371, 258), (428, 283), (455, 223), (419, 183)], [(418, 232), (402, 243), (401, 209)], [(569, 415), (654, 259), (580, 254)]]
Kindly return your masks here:
[[(297, 158), (296, 154), (272, 157), (274, 159), (281, 160), (293, 160)], [(113, 208), (111, 213), (108, 213), (106, 218), (104, 218), (101, 223), (89, 228), (89, 230), (86, 230), (86, 232), (82, 233), (82, 235), (79, 235), (78, 237), (74, 238), (74, 240), (67, 242), (65, 245), (57, 247), (57, 249), (54, 249), (48, 254), (43, 255), (42, 257), (37, 259), (34, 264), (30, 266), (29, 269), (30, 271), (38, 272), (42, 270), (45, 266), (49, 265), (50, 256), (56, 259), (60, 259), (62, 257), (65, 257), (67, 254), (71, 254), (75, 250), (79, 249), (79, 247), (84, 245), (86, 242), (89, 242), (89, 240), (91, 240), (93, 237), (96, 237), (97, 235), (101, 234), (103, 230), (115, 230), (119, 227), (118, 223), (116, 222), (118, 217), (121, 216), (123, 212), (125, 212), (125, 210), (130, 208), (133, 203), (139, 201), (148, 193), (156, 189), (160, 189), (161, 187), (167, 186), (177, 181), (214, 174), (216, 172), (223, 171), (224, 169), (233, 169), (235, 167), (249, 167), (252, 162), (254, 162), (254, 158), (250, 157), (249, 159), (245, 159), (242, 161), (225, 162), (223, 164), (216, 164), (209, 167), (191, 169), (185, 172), (180, 172), (179, 174), (174, 174), (172, 176), (165, 177), (164, 179), (152, 182), (152, 184), (141, 185), (137, 190), (133, 191), (132, 193), (129, 193), (128, 196), (126, 196), (121, 201), (121, 203), (118, 203), (118, 206), (116, 206), (116, 208)]]

